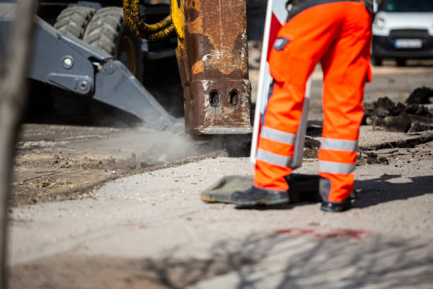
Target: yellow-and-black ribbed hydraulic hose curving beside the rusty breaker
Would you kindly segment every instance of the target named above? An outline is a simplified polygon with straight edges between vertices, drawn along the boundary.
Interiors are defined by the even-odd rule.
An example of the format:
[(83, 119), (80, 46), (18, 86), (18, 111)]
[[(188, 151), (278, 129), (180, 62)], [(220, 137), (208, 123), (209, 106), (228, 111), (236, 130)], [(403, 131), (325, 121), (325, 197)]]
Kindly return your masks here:
[(175, 30), (171, 15), (155, 24), (144, 23), (140, 14), (139, 0), (123, 0), (123, 13), (132, 32), (147, 40), (166, 38)]

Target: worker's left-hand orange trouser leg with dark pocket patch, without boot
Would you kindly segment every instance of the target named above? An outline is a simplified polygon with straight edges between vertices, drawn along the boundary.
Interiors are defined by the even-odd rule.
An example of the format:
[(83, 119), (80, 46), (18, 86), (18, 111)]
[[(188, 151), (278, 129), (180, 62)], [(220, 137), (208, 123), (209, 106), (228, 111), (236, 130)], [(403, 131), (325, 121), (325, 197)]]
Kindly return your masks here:
[(295, 135), (304, 104), (306, 81), (342, 22), (342, 3), (308, 8), (278, 33), (270, 53), (275, 80), (258, 140), (254, 186), (287, 191), (284, 176), (291, 173)]

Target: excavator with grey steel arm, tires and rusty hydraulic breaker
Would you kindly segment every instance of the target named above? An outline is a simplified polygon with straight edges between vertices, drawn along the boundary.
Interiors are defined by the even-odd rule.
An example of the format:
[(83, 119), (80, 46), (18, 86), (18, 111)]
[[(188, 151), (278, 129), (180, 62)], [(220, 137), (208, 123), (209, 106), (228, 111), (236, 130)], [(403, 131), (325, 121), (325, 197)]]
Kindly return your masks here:
[[(0, 1), (5, 55), (13, 49), (8, 30), (15, 2)], [(163, 21), (146, 24), (170, 11)], [(246, 0), (125, 0), (123, 6), (114, 0), (41, 0), (35, 23), (30, 79), (132, 113), (146, 128), (179, 130), (178, 120), (141, 83), (143, 57), (175, 54), (185, 130), (192, 135), (251, 132)], [(170, 33), (175, 37), (168, 38)]]

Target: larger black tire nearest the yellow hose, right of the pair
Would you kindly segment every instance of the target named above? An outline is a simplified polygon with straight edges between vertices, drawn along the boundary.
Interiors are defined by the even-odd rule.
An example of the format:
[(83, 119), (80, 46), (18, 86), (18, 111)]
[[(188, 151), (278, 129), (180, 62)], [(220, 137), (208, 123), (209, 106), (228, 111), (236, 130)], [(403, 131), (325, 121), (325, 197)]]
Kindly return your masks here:
[(143, 79), (142, 40), (129, 30), (120, 7), (96, 11), (83, 40), (120, 60), (139, 80)]

